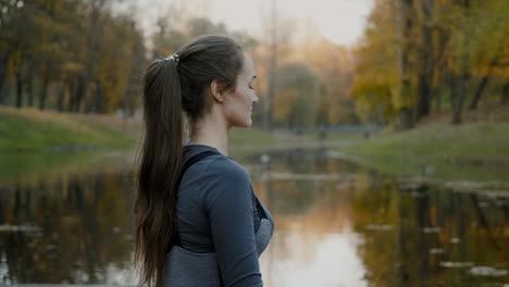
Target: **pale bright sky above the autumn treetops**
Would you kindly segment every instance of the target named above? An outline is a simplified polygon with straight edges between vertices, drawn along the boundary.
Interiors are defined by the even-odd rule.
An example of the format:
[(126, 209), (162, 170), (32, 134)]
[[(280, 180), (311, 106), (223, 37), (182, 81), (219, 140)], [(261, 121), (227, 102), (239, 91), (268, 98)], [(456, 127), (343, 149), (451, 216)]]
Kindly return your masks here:
[(145, 0), (134, 1), (134, 5), (141, 27), (149, 33), (156, 27), (158, 13), (185, 2), (190, 7), (189, 13), (206, 13), (229, 30), (260, 36), (266, 33), (263, 20), (271, 15), (272, 1), (275, 1), (280, 18), (311, 20), (323, 37), (344, 46), (359, 40), (374, 5), (374, 0)]

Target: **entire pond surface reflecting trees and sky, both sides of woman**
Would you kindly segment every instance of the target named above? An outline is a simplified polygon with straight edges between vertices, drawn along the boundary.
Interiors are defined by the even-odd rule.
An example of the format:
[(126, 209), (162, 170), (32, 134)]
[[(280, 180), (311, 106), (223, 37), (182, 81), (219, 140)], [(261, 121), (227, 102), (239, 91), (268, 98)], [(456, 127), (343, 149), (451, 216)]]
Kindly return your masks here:
[[(266, 286), (509, 284), (509, 192), (400, 190), (324, 150), (269, 155), (243, 161), (276, 221)], [(0, 185), (0, 285), (134, 284), (132, 188), (125, 170)]]

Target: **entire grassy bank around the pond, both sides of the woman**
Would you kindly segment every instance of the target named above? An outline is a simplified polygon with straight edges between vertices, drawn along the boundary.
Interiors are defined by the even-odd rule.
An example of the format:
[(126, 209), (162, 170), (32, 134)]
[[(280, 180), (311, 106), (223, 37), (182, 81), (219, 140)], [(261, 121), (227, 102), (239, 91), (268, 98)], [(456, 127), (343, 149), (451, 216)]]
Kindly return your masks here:
[[(115, 116), (39, 112), (0, 107), (0, 180), (28, 174), (59, 174), (133, 162), (140, 138), (139, 121)], [(396, 176), (438, 180), (508, 180), (509, 123), (477, 122), (460, 126), (427, 123), (412, 130), (316, 135), (233, 129), (234, 158), (274, 149), (328, 145), (342, 158)]]

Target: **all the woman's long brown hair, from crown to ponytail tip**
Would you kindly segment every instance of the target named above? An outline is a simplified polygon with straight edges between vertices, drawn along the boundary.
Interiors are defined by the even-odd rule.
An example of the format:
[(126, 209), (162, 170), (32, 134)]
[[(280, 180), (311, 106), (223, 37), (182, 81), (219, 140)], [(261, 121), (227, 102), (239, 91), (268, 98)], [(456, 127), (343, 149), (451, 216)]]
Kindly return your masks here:
[(176, 195), (183, 166), (184, 118), (209, 111), (208, 87), (236, 86), (243, 50), (225, 36), (196, 38), (177, 57), (152, 62), (145, 74), (145, 137), (135, 201), (135, 263), (141, 286), (162, 286), (166, 253), (178, 239)]

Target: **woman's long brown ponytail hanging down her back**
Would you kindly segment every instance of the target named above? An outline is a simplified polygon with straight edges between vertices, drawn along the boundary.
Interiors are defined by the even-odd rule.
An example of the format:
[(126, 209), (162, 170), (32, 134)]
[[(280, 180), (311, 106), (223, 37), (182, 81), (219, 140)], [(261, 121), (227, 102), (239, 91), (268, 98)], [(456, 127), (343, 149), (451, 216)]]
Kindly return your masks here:
[(176, 182), (183, 165), (183, 104), (177, 62), (150, 64), (144, 83), (145, 138), (135, 201), (135, 262), (141, 286), (162, 286), (177, 240)]

